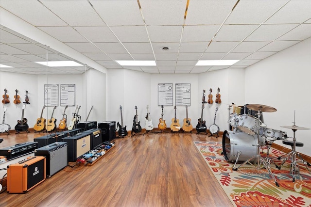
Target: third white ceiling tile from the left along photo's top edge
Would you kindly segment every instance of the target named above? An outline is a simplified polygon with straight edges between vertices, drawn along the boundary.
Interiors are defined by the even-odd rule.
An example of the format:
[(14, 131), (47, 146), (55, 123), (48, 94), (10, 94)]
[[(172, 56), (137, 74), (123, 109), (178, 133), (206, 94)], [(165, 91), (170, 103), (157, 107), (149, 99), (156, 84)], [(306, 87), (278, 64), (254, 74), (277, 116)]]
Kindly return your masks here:
[(144, 25), (136, 0), (90, 0), (109, 26)]

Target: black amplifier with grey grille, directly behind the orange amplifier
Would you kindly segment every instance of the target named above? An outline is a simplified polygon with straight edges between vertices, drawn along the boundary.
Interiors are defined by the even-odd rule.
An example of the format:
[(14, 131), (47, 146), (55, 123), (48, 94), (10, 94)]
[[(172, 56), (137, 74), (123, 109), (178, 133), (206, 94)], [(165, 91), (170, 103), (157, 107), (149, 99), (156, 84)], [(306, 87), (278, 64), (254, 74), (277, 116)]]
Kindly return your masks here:
[(46, 158), (46, 175), (49, 178), (68, 165), (68, 144), (64, 142), (48, 144), (36, 149), (35, 156)]

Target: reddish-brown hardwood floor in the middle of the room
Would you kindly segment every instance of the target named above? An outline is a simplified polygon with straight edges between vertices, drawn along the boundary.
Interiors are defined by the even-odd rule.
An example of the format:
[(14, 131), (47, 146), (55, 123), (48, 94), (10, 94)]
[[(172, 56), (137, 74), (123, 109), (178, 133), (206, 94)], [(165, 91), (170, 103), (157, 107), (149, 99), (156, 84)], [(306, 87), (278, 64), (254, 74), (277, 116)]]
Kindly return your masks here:
[[(0, 147), (43, 135), (1, 134)], [(115, 139), (94, 165), (66, 167), (25, 194), (1, 193), (0, 207), (230, 207), (193, 143), (209, 140), (222, 136), (149, 132)]]

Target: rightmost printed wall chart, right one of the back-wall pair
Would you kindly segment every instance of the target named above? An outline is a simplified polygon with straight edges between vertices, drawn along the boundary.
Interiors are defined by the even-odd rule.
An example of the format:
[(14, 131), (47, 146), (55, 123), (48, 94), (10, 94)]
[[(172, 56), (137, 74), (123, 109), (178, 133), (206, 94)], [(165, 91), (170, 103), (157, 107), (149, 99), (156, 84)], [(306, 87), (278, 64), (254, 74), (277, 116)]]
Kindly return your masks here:
[(175, 83), (175, 106), (190, 106), (190, 83)]

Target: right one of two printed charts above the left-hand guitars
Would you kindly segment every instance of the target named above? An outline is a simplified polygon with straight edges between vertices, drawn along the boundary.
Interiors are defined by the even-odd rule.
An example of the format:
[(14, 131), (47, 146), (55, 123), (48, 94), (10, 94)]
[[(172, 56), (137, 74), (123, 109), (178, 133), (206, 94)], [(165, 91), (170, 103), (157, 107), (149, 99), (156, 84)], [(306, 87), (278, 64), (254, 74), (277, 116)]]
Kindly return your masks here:
[(60, 84), (60, 106), (75, 106), (75, 96), (75, 84)]

